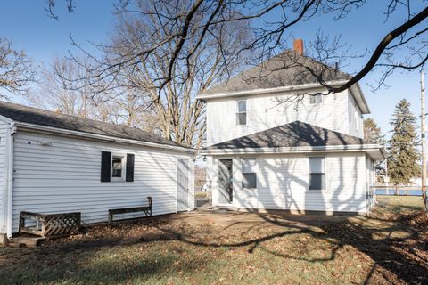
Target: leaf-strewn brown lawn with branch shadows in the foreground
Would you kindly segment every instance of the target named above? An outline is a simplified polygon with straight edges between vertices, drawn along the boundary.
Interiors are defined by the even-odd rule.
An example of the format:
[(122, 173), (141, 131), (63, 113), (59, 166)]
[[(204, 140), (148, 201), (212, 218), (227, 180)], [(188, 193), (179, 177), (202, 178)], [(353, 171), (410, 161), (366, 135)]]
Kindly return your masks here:
[(380, 197), (370, 218), (189, 213), (97, 226), (40, 248), (0, 248), (0, 281), (424, 284), (422, 206), (412, 197)]

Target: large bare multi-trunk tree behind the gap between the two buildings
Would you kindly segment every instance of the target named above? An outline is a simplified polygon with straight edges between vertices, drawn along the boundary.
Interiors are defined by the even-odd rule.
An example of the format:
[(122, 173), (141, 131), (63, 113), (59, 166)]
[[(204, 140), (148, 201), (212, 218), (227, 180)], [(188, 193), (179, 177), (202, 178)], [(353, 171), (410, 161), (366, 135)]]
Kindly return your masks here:
[[(192, 27), (187, 29), (192, 38), (181, 46), (187, 51), (185, 56), (174, 53), (175, 42), (172, 41), (158, 45), (151, 53), (139, 54), (140, 50), (152, 48), (158, 39), (175, 34), (186, 21), (183, 17), (165, 21), (153, 11), (162, 9), (160, 13), (165, 13), (165, 17), (174, 17), (177, 11), (185, 13), (191, 1), (170, 1), (169, 5), (174, 9), (158, 4), (154, 0), (138, 1), (132, 12), (117, 10), (118, 25), (110, 43), (98, 45), (103, 51), (103, 59), (92, 57), (92, 63), (87, 64), (87, 61), (72, 57), (74, 62), (91, 72), (81, 81), (74, 82), (75, 88), (97, 85), (99, 94), (123, 92), (133, 94), (134, 99), (138, 98), (134, 94), (138, 94), (139, 98), (151, 102), (146, 106), (147, 110), (156, 114), (164, 137), (199, 147), (205, 134), (205, 114), (203, 102), (196, 101), (195, 96), (225, 80), (242, 66), (236, 54), (249, 38), (246, 34), (248, 27), (241, 22), (233, 25), (224, 22), (211, 27), (210, 31), (204, 30), (200, 26), (205, 17), (200, 14), (197, 16), (199, 20), (193, 19)], [(205, 37), (207, 32), (215, 37)], [(125, 61), (128, 64), (122, 64)], [(177, 65), (169, 68), (171, 61), (176, 61)], [(105, 65), (104, 69), (106, 62), (109, 67)]]

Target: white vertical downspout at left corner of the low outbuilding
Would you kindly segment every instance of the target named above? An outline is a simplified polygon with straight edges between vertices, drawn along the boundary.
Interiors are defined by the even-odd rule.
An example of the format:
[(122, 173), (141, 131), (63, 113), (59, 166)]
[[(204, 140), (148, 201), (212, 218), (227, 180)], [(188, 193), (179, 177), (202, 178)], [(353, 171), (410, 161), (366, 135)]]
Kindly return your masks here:
[(12, 190), (13, 190), (13, 135), (16, 134), (16, 126), (12, 122), (7, 129), (7, 173), (6, 173), (6, 184), (7, 184), (7, 214), (6, 214), (6, 237), (12, 239)]

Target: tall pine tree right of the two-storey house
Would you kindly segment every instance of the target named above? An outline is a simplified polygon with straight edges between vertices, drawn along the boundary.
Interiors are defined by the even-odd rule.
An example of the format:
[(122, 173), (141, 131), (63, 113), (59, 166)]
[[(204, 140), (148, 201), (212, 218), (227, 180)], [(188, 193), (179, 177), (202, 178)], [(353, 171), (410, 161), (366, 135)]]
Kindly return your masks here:
[(420, 174), (419, 141), (416, 134), (416, 117), (410, 111), (410, 103), (402, 99), (396, 106), (390, 124), (392, 136), (388, 145), (388, 173), (390, 182), (396, 186), (410, 183)]

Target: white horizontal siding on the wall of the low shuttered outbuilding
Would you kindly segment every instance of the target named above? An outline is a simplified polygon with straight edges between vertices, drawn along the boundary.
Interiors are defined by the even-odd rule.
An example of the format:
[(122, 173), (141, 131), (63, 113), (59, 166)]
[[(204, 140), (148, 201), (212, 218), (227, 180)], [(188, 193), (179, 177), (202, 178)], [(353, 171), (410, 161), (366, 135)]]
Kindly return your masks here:
[[(42, 141), (52, 145), (42, 146)], [(101, 183), (101, 151), (134, 153), (134, 182)], [(139, 206), (147, 196), (152, 196), (153, 215), (175, 213), (179, 156), (185, 155), (119, 143), (18, 132), (14, 149), (12, 232), (17, 231), (21, 210), (78, 211), (87, 224), (107, 221), (110, 208)], [(190, 162), (193, 170), (191, 157)], [(193, 172), (189, 175), (190, 209), (193, 209)]]

